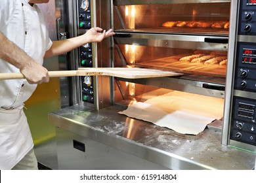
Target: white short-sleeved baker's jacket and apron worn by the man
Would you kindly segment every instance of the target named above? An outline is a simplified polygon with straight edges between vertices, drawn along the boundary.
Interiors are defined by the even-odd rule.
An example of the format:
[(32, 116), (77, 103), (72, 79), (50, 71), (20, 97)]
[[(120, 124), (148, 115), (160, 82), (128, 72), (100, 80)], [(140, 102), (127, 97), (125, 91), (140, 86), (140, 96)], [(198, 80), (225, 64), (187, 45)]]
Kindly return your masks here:
[[(43, 64), (43, 56), (53, 42), (49, 39), (43, 14), (37, 5), (31, 7), (28, 1), (0, 1), (0, 31), (35, 61)], [(0, 73), (19, 72), (19, 69), (0, 59)], [(0, 169), (12, 169), (33, 148), (32, 135), (22, 108), (36, 86), (26, 79), (0, 80)]]

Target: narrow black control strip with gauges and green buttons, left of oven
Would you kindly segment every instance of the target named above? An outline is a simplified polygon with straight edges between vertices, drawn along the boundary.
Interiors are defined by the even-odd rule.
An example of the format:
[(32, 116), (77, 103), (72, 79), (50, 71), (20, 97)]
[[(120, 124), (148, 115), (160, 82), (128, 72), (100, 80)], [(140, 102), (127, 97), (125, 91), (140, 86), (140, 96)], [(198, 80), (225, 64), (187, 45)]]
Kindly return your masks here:
[[(91, 0), (77, 0), (77, 22), (79, 33), (91, 29)], [(84, 44), (79, 48), (79, 67), (93, 67), (93, 46)], [(81, 76), (81, 100), (94, 103), (93, 76)]]

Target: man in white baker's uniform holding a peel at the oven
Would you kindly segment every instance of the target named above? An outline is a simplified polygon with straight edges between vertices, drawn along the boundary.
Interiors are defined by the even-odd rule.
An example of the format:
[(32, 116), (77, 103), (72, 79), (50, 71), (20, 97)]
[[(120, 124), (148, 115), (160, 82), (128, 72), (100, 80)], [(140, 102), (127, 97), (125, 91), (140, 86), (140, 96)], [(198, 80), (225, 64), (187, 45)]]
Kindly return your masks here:
[(88, 42), (114, 35), (112, 29), (89, 29), (84, 35), (51, 41), (43, 14), (35, 5), (49, 0), (1, 0), (0, 73), (22, 73), (26, 79), (0, 81), (0, 169), (37, 169), (24, 102), (37, 84), (49, 82), (43, 58), (70, 52)]

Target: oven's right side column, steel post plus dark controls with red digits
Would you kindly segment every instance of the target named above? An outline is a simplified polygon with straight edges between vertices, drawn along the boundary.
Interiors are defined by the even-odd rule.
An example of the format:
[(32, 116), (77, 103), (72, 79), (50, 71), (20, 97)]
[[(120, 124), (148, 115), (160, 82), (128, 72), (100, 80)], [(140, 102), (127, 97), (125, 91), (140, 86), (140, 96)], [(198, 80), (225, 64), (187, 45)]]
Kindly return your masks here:
[(234, 16), (236, 35), (232, 35), (234, 42), (230, 44), (234, 50), (230, 50), (229, 63), (234, 64), (234, 70), (226, 81), (232, 90), (226, 91), (223, 137), (227, 139), (223, 144), (256, 152), (256, 3), (233, 3), (239, 8), (238, 16)]

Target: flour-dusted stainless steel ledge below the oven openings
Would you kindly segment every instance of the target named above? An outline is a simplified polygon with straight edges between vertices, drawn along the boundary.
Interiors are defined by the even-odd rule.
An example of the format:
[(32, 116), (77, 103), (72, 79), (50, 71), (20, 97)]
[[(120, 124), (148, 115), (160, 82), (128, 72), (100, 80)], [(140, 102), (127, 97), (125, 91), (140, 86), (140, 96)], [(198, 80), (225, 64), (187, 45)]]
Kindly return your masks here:
[(151, 161), (168, 169), (253, 169), (255, 154), (221, 145), (221, 131), (207, 128), (198, 135), (117, 114), (111, 106), (94, 110), (75, 105), (51, 112), (56, 127)]

